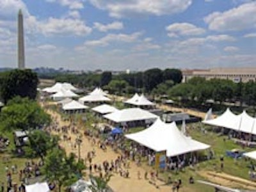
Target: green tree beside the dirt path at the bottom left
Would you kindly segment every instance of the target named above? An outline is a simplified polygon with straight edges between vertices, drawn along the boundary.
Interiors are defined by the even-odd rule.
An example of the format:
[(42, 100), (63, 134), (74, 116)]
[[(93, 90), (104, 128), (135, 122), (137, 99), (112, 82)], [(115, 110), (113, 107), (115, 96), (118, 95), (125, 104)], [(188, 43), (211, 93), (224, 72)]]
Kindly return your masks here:
[(76, 161), (74, 154), (67, 156), (60, 148), (53, 148), (47, 154), (42, 168), (45, 179), (56, 182), (59, 191), (62, 186), (70, 186), (76, 182), (84, 169), (83, 161)]

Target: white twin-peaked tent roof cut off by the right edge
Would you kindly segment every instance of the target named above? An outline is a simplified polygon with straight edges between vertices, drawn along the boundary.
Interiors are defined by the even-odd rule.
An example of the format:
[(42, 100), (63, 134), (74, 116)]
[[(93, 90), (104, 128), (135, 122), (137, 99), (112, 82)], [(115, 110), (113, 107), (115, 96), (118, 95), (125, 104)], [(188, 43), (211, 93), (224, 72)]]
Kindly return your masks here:
[(202, 121), (204, 124), (225, 127), (234, 131), (256, 134), (256, 118), (248, 115), (246, 111), (236, 115), (229, 108), (220, 116)]

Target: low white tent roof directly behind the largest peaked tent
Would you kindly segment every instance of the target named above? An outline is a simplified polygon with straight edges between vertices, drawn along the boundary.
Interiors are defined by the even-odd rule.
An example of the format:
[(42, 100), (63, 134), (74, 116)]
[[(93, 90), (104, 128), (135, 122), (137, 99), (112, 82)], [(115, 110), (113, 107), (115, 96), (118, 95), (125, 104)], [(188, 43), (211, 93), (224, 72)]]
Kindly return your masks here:
[(128, 108), (104, 115), (104, 118), (108, 118), (113, 122), (120, 123), (156, 119), (158, 116), (140, 108)]

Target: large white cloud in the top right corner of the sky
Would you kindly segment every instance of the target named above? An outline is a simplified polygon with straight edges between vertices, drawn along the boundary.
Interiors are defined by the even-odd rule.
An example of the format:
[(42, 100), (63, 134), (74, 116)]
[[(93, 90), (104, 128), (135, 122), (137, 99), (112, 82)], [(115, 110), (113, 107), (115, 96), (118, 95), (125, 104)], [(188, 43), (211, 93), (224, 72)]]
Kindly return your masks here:
[(241, 31), (256, 28), (256, 2), (244, 3), (226, 12), (214, 12), (204, 18), (214, 31)]

